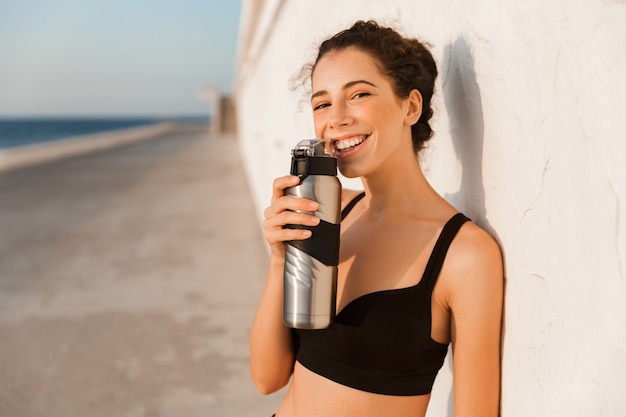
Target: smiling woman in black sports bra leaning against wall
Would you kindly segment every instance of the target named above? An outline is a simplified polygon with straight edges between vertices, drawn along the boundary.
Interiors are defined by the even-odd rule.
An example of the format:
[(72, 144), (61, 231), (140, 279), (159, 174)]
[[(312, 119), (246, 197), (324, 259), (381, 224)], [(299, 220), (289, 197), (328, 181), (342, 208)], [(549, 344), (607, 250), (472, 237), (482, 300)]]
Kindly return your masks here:
[(284, 242), (310, 232), (283, 226), (319, 219), (302, 213), (316, 202), (285, 195), (298, 178), (274, 181), (264, 213), (270, 269), (250, 352), (262, 393), (291, 378), (277, 417), (423, 417), (449, 343), (454, 415), (498, 415), (500, 250), (433, 190), (416, 157), (432, 136), (436, 76), (424, 45), (375, 22), (320, 46), (315, 133), (365, 192), (344, 192), (335, 322), (292, 331), (281, 319)]

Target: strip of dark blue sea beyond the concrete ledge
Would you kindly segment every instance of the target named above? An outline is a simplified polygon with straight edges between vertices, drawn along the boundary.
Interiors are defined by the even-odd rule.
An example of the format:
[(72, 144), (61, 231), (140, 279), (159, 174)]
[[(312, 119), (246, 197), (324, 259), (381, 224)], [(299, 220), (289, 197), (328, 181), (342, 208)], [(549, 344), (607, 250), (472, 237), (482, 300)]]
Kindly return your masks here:
[(166, 121), (161, 118), (0, 119), (0, 149)]

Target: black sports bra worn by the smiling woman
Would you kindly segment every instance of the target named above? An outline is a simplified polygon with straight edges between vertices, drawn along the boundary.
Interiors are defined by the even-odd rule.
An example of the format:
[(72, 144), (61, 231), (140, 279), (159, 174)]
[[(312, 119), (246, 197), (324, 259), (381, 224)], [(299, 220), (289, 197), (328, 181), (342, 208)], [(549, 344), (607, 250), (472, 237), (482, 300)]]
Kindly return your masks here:
[[(354, 204), (344, 209), (342, 218)], [(296, 330), (296, 360), (323, 377), (362, 391), (430, 393), (448, 351), (447, 344), (431, 338), (432, 291), (448, 247), (467, 220), (458, 213), (446, 223), (416, 285), (358, 297), (327, 329)]]

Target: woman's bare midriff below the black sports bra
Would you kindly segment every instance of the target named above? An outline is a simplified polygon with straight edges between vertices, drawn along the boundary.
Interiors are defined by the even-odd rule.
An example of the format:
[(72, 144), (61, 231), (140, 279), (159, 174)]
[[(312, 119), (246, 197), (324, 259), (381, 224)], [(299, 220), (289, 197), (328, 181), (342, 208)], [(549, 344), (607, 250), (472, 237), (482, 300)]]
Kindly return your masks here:
[(317, 375), (296, 362), (276, 417), (423, 417), (428, 395), (411, 397), (359, 391)]

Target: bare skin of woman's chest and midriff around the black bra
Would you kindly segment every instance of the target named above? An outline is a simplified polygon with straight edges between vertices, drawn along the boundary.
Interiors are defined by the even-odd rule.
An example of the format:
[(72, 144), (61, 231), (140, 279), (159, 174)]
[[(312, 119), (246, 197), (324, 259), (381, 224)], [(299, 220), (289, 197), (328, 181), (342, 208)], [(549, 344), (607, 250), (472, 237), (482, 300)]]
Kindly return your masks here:
[[(371, 221), (362, 216), (367, 201), (358, 203), (342, 222), (338, 268), (337, 311), (352, 300), (376, 291), (416, 285), (426, 267), (437, 237), (454, 214), (426, 221), (412, 216)], [(450, 340), (449, 312), (439, 287), (432, 296), (433, 340)], [(396, 396), (360, 391), (320, 376), (296, 362), (291, 386), (278, 417), (424, 416), (430, 394)]]

